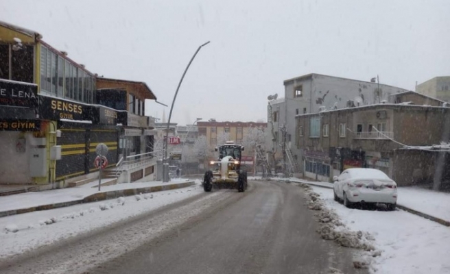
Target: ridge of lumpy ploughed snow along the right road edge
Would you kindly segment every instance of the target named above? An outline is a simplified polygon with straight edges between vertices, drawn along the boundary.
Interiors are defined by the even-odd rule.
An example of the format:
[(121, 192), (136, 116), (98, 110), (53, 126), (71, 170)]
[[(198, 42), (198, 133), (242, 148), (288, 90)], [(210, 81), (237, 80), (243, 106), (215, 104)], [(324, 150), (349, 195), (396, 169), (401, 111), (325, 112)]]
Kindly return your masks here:
[(380, 256), (381, 251), (375, 249), (375, 238), (368, 232), (351, 231), (342, 223), (334, 210), (330, 210), (320, 199), (320, 194), (314, 192), (307, 184), (298, 186), (305, 189), (307, 193), (307, 207), (314, 210), (314, 217), (319, 223), (318, 234), (324, 240), (334, 240), (341, 247), (351, 247), (364, 251), (361, 258), (353, 260), (353, 266), (356, 269), (367, 269), (372, 263), (372, 258)]

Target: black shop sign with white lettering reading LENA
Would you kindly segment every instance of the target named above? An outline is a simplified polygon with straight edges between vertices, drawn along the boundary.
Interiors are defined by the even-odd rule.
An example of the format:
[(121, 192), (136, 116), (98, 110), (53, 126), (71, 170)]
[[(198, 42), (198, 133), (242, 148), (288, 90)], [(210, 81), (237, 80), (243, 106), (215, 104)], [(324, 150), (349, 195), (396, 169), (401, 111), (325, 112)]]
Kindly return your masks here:
[(34, 108), (38, 105), (38, 86), (0, 79), (0, 105)]

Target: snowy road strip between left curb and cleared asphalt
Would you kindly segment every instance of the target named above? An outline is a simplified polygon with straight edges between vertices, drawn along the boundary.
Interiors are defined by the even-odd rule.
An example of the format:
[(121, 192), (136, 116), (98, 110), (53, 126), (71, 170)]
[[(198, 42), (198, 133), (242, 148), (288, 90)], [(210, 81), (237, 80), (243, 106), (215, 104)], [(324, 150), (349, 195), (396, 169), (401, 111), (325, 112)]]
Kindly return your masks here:
[(90, 232), (202, 192), (203, 188), (197, 182), (189, 188), (6, 216), (0, 218), (0, 259)]

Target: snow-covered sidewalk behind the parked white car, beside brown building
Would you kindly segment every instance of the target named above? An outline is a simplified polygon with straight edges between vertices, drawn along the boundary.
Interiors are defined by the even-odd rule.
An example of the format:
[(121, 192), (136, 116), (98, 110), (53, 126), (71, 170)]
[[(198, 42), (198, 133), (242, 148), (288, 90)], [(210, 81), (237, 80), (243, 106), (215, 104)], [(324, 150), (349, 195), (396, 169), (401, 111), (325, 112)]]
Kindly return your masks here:
[[(322, 188), (333, 188), (333, 183), (313, 182), (298, 178), (277, 178), (281, 181), (309, 184)], [(410, 213), (416, 214), (442, 225), (450, 226), (450, 194), (426, 190), (418, 187), (399, 187), (397, 206)]]

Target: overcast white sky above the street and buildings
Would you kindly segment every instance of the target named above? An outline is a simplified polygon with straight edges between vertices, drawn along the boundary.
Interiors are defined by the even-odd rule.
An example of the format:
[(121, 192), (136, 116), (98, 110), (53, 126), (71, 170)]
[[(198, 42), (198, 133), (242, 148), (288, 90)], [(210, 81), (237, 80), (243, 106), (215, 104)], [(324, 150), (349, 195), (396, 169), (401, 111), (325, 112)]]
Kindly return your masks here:
[[(322, 73), (414, 90), (450, 75), (450, 1), (1, 0), (0, 20), (43, 34), (105, 77), (146, 82), (172, 121), (265, 119), (283, 80)], [(165, 109), (147, 103), (147, 115)]]

